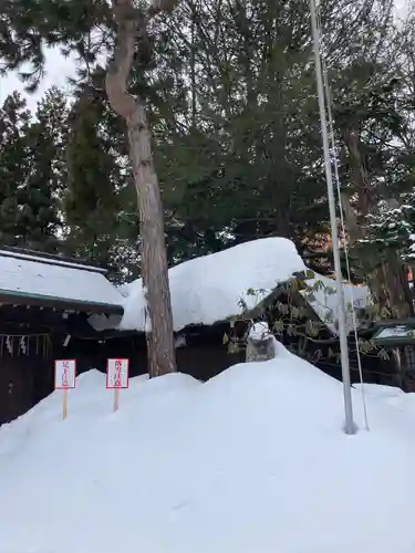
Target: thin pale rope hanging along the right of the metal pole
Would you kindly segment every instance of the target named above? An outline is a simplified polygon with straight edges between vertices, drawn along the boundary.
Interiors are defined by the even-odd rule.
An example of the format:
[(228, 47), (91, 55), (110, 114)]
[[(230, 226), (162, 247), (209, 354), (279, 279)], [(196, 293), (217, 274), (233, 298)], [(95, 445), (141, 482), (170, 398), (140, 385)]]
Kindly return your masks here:
[[(342, 229), (342, 234), (344, 237), (343, 250), (344, 250), (344, 257), (345, 257), (345, 263), (346, 263), (347, 282), (350, 284), (352, 284), (350, 260), (349, 260), (349, 247), (347, 247), (347, 241), (346, 241), (346, 230), (345, 230), (344, 215), (343, 215), (343, 202), (342, 202), (341, 189), (340, 189), (341, 185), (340, 185), (340, 174), (339, 174), (339, 157), (338, 157), (338, 146), (336, 146), (336, 140), (335, 140), (334, 124), (333, 124), (332, 95), (331, 95), (331, 88), (330, 88), (330, 83), (329, 83), (328, 67), (326, 67), (326, 63), (325, 63), (325, 52), (324, 52), (324, 46), (323, 46), (323, 43), (321, 40), (322, 23), (321, 23), (320, 6), (317, 7), (317, 24), (318, 24), (318, 33), (319, 33), (319, 38), (320, 38), (320, 56), (321, 56), (323, 86), (324, 86), (324, 92), (325, 92), (325, 102), (326, 102), (326, 111), (328, 111), (329, 137), (330, 137), (330, 142), (331, 142), (332, 165), (333, 165), (333, 169), (334, 169), (334, 181), (335, 181), (335, 188), (336, 188), (336, 192), (338, 192), (340, 225), (341, 225), (341, 229)], [(360, 379), (360, 384), (361, 384), (361, 396), (362, 396), (364, 425), (365, 425), (365, 429), (370, 430), (367, 407), (366, 407), (366, 394), (365, 394), (365, 386), (364, 386), (364, 382), (363, 382), (362, 358), (361, 358), (359, 334), (357, 334), (357, 320), (356, 320), (356, 314), (354, 311), (354, 290), (353, 290), (352, 285), (350, 288), (350, 291), (351, 291), (351, 301), (352, 301), (352, 324), (353, 324), (354, 342), (355, 342), (355, 346), (356, 346), (356, 357), (357, 357), (359, 379)]]

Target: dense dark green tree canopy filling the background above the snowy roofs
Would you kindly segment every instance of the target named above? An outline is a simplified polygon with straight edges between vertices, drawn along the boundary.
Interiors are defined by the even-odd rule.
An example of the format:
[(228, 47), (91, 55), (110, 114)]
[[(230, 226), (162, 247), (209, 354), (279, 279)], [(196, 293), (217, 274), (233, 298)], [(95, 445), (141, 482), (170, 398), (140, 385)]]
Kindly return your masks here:
[[(392, 11), (392, 0), (320, 3), (362, 280), (374, 267), (362, 255), (378, 251), (373, 217), (391, 198), (406, 202), (414, 186), (414, 27), (411, 15), (397, 25)], [(114, 39), (106, 1), (3, 2), (4, 71), (24, 64), (33, 90), (53, 45), (76, 56), (77, 79), (71, 97), (50, 91), (34, 118), (22, 98), (6, 100), (0, 230), (4, 242), (114, 263), (131, 276), (139, 271), (139, 223), (125, 132), (104, 91)], [(330, 250), (313, 71), (307, 1), (185, 0), (151, 22), (131, 90), (144, 98), (154, 133), (170, 264), (267, 236), (290, 238), (304, 254)], [(364, 254), (363, 234), (373, 238)]]

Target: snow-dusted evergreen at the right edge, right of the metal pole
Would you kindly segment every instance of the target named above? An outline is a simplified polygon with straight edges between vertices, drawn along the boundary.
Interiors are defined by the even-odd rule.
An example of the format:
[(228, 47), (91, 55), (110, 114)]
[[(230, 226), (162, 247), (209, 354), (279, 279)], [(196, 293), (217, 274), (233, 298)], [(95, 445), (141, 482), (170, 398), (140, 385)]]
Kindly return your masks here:
[(377, 239), (375, 227), (414, 185), (413, 115), (400, 32), (386, 24), (377, 45), (372, 36), (335, 81), (342, 195), (354, 268), (371, 286), (383, 316), (403, 319), (413, 315), (407, 267), (398, 250)]

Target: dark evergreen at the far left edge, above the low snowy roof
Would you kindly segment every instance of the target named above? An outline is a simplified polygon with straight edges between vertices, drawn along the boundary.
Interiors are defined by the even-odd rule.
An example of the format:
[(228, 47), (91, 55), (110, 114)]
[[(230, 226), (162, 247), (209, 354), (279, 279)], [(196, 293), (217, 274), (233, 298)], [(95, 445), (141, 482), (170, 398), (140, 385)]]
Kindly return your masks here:
[[(44, 114), (48, 111), (43, 106)], [(1, 241), (56, 251), (54, 145), (45, 122), (32, 121), (18, 94), (0, 112)]]

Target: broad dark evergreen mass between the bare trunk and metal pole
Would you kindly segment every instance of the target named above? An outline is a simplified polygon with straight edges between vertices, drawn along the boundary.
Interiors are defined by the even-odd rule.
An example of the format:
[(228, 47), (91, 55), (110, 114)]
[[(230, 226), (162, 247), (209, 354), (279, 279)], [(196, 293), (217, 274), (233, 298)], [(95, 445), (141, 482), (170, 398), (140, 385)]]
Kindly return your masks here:
[[(356, 53), (371, 59), (390, 32), (390, 10), (391, 2), (322, 6), (331, 77), (356, 84), (336, 96), (344, 105), (355, 95), (364, 100), (367, 85), (373, 91), (359, 80)], [(181, 56), (174, 65), (176, 88), (187, 97), (187, 108), (175, 105), (170, 139), (163, 135), (158, 147), (173, 255), (271, 234), (294, 240), (300, 250), (326, 240), (308, 25), (308, 2), (207, 7), (193, 0), (165, 23)]]

